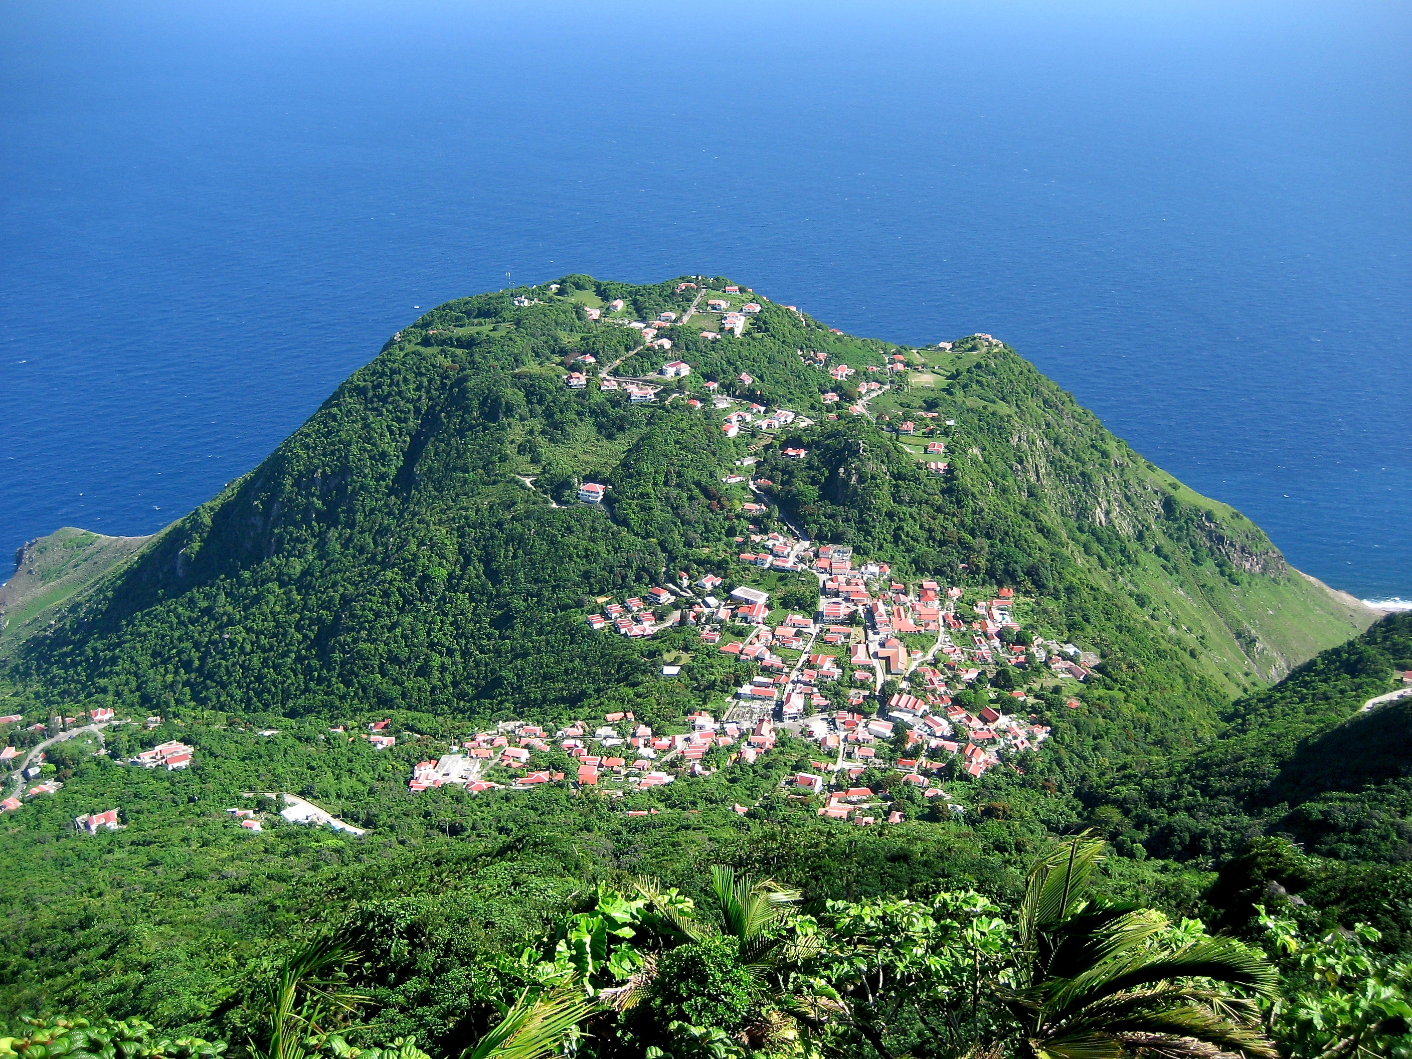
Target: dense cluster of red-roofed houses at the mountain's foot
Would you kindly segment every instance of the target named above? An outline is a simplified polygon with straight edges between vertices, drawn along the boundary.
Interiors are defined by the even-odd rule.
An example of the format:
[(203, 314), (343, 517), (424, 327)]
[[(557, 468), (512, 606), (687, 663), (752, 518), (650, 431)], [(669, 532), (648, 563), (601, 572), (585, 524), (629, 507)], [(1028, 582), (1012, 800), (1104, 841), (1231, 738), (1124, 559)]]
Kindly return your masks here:
[[(1029, 712), (1031, 699), (1021, 690), (994, 699), (983, 690), (987, 705), (976, 705), (976, 689), (993, 685), (993, 674), (1043, 666), (1051, 679), (1082, 681), (1097, 662), (1072, 644), (1019, 641), (1011, 589), (963, 609), (967, 593), (960, 587), (904, 585), (887, 563), (860, 563), (850, 548), (784, 532), (737, 541), (748, 548), (737, 559), (761, 578), (813, 578), (818, 609), (803, 614), (775, 606), (762, 587), (767, 580), (727, 585), (714, 573), (690, 579), (682, 572), (641, 596), (602, 597), (600, 611), (587, 617), (592, 628), (627, 637), (693, 628), (702, 650), (751, 662), (757, 675), (720, 703), (719, 716), (696, 710), (685, 719), (689, 730), (672, 734), (654, 731), (631, 713), (578, 720), (552, 733), (503, 722), (453, 746), (453, 753), (417, 764), (408, 786), (522, 791), (563, 782), (621, 796), (682, 775), (753, 764), (789, 736), (818, 747), (812, 771), (785, 781), (789, 796), (826, 799), (818, 813), (827, 819), (873, 823), (878, 818), (870, 813), (887, 799), (857, 785), (871, 770), (898, 774), (923, 798), (949, 803), (943, 778), (974, 778), (1000, 765), (1018, 772), (1019, 755), (1048, 738), (1049, 727)], [(668, 664), (662, 675), (681, 669)], [(897, 690), (884, 702), (880, 695), (890, 682)], [(572, 771), (545, 764), (561, 751), (573, 761)], [(885, 818), (897, 813), (890, 809)]]

